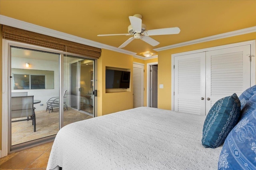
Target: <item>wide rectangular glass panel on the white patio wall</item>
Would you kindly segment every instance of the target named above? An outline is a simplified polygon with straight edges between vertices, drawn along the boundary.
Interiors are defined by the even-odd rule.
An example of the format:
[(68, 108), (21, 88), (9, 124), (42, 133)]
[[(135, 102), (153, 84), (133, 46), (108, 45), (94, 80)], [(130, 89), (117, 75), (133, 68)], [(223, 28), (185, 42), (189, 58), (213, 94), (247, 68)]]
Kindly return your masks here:
[(12, 90), (54, 89), (54, 71), (12, 68)]

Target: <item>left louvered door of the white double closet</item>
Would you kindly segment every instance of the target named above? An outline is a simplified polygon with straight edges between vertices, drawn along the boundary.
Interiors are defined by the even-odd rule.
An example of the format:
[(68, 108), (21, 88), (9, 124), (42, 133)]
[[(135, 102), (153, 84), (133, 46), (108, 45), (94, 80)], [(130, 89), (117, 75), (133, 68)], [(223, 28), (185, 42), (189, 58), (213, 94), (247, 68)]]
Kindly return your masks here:
[(204, 115), (205, 52), (174, 58), (174, 110)]

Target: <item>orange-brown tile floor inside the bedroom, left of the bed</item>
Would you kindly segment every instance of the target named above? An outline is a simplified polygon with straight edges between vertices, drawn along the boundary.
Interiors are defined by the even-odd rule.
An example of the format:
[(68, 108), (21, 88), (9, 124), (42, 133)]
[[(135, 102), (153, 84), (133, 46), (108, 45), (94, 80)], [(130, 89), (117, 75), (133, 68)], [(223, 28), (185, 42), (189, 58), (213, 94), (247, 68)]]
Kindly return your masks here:
[(0, 158), (1, 170), (45, 170), (53, 142)]

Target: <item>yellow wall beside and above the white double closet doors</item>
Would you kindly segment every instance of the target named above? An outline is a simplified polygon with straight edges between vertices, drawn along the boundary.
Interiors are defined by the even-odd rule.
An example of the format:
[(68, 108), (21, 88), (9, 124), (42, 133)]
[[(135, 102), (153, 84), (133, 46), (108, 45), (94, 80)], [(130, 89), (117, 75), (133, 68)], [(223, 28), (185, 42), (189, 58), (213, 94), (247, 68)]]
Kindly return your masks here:
[(208, 41), (205, 43), (198, 43), (194, 45), (188, 45), (185, 47), (178, 47), (175, 49), (169, 49), (158, 52), (158, 84), (164, 84), (164, 88), (158, 87), (158, 108), (171, 109), (171, 55), (175, 53), (182, 53), (185, 51), (192, 51), (197, 49), (204, 49), (209, 47), (216, 47), (220, 45), (227, 45), (232, 43), (238, 43), (243, 41), (255, 40), (256, 33), (248, 33), (244, 35), (238, 35), (234, 37), (228, 37), (224, 39), (218, 39), (214, 41)]

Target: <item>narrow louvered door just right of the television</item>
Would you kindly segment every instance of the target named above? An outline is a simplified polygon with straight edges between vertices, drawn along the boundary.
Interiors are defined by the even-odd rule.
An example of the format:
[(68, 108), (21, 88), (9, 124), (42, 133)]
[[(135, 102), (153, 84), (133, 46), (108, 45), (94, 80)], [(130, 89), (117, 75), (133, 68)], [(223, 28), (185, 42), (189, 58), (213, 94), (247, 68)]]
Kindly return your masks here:
[(144, 65), (141, 64), (133, 64), (133, 108), (142, 107), (143, 105), (143, 73), (144, 73)]

